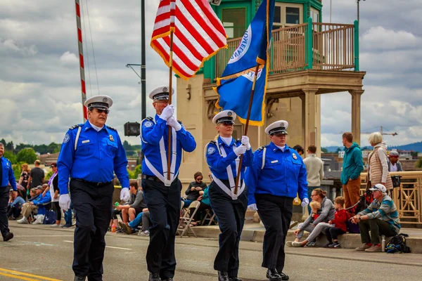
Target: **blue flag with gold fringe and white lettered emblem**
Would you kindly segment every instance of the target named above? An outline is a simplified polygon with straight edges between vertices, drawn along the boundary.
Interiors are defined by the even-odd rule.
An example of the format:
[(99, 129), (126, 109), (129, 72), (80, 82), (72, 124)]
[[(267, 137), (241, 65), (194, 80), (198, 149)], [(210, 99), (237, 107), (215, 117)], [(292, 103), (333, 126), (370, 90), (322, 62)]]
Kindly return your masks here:
[(274, 20), (275, 0), (263, 1), (248, 30), (243, 34), (236, 51), (222, 73), (217, 78), (215, 91), (218, 94), (216, 107), (233, 110), (238, 119), (245, 124), (248, 118), (250, 93), (255, 78), (255, 67), (259, 64), (255, 93), (250, 111), (250, 125), (264, 124), (265, 92), (267, 90), (268, 65), (267, 55), (271, 42)]

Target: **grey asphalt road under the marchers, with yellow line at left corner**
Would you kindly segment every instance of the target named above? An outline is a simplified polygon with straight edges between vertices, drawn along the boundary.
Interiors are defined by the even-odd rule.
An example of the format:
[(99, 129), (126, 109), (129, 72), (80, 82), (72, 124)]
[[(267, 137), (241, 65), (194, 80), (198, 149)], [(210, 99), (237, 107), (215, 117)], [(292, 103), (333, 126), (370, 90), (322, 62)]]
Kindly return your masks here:
[[(0, 242), (0, 280), (73, 280), (73, 230), (17, 226), (15, 238)], [(103, 280), (148, 280), (148, 237), (108, 233)], [(213, 261), (216, 239), (177, 238), (174, 280), (217, 280)], [(239, 277), (267, 280), (262, 244), (241, 242)], [(422, 280), (421, 254), (362, 253), (351, 249), (287, 249), (290, 280)]]

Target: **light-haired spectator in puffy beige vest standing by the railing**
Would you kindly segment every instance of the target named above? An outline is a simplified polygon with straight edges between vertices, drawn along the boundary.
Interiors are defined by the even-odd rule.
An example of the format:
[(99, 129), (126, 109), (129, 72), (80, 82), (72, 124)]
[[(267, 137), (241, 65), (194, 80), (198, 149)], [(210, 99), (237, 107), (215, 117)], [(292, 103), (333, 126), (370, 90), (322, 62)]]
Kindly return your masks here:
[(388, 174), (387, 145), (383, 142), (383, 135), (378, 132), (371, 133), (369, 143), (373, 146), (373, 151), (368, 155), (368, 174), (371, 181), (369, 186), (381, 183), (389, 192), (392, 190), (392, 181)]

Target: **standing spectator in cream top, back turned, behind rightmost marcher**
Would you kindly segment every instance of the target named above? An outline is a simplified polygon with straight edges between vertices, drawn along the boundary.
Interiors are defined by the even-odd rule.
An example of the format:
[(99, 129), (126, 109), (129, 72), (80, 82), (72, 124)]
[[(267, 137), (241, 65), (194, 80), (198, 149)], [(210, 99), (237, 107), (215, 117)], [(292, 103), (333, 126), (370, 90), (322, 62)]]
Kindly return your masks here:
[[(321, 187), (321, 181), (324, 178), (324, 162), (319, 157), (316, 157), (316, 146), (309, 145), (308, 156), (303, 159), (306, 166), (306, 178), (308, 183), (307, 195), (311, 197), (312, 190)], [(308, 205), (308, 212), (311, 214), (311, 207)]]

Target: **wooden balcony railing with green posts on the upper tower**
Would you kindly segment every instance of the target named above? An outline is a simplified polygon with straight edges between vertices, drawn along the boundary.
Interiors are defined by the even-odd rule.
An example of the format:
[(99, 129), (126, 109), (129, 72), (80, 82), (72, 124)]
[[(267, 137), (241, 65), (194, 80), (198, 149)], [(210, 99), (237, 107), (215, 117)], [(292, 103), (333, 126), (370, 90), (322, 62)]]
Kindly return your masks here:
[[(230, 39), (229, 47), (215, 55), (213, 79), (221, 77), (241, 38)], [(298, 70), (359, 71), (359, 30), (354, 25), (312, 22), (272, 31), (269, 49), (271, 74)]]

